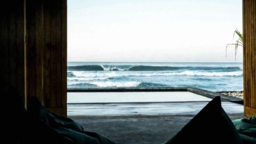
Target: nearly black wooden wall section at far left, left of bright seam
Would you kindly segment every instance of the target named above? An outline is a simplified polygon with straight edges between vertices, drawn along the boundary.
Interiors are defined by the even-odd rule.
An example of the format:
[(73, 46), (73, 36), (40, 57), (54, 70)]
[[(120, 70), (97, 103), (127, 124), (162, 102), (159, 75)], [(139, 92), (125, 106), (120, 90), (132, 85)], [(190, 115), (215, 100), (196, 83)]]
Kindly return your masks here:
[(0, 82), (1, 85), (14, 86), (23, 98), (25, 96), (24, 48), (24, 1), (2, 1), (0, 5)]

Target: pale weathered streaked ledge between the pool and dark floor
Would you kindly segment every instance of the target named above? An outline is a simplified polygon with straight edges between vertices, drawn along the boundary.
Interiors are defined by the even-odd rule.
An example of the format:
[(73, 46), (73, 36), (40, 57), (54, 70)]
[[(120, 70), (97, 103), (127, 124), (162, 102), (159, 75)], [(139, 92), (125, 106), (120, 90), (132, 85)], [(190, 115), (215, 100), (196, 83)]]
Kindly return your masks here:
[[(167, 103), (77, 103), (68, 104), (69, 116), (140, 116), (140, 115), (196, 115), (207, 101)], [(244, 106), (223, 101), (226, 113), (244, 113)]]

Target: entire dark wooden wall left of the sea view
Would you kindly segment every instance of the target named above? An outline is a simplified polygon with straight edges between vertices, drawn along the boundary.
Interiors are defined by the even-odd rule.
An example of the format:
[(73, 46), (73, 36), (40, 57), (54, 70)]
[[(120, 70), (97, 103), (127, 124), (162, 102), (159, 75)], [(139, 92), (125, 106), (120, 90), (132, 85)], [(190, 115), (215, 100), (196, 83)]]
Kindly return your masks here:
[(67, 1), (3, 1), (0, 16), (1, 84), (66, 115)]

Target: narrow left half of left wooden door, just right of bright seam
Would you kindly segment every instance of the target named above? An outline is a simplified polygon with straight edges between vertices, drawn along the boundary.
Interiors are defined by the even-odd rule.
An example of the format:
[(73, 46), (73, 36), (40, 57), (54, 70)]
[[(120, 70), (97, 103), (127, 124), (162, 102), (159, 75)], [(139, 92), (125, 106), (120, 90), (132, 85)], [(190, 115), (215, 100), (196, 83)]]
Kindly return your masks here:
[[(26, 1), (26, 75), (27, 94), (43, 101), (43, 3)], [(29, 101), (28, 101), (29, 102)]]

